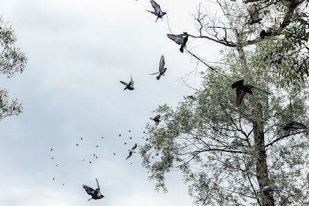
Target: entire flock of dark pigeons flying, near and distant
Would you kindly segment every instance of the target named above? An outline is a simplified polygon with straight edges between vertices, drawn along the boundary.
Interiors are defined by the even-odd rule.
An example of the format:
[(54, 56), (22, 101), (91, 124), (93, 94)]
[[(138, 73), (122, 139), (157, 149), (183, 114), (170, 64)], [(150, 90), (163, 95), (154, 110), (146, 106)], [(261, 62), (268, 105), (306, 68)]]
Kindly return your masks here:
[[(150, 10), (147, 10), (147, 11), (151, 12), (153, 15), (157, 16), (157, 19), (155, 21), (155, 22), (157, 22), (158, 19), (161, 19), (162, 17), (164, 17), (164, 15), (166, 15), (166, 12), (163, 12), (161, 10), (159, 4), (156, 3), (155, 1), (150, 0), (150, 3), (152, 5), (152, 8), (154, 8), (154, 11), (150, 11)], [(269, 11), (267, 11), (267, 10), (264, 11), (265, 14), (267, 12), (269, 12)], [(261, 24), (262, 19), (258, 17), (259, 14), (258, 14), (258, 10), (257, 10), (255, 4), (253, 4), (251, 10), (249, 10), (249, 15), (250, 15), (250, 18), (251, 18), (249, 24), (256, 24), (256, 23)], [(261, 31), (260, 37), (263, 39), (267, 36), (272, 35), (272, 33), (274, 33), (273, 28), (270, 28), (267, 31), (263, 30), (263, 31)], [(186, 47), (186, 43), (188, 42), (189, 36), (195, 37), (193, 35), (189, 35), (186, 32), (179, 34), (179, 35), (167, 34), (167, 37), (170, 38), (170, 40), (173, 40), (176, 44), (180, 45), (179, 51), (182, 52), (182, 53), (184, 52), (184, 48)], [(157, 80), (159, 80), (161, 78), (161, 76), (165, 75), (166, 68), (164, 67), (164, 65), (165, 65), (164, 55), (161, 55), (161, 59), (160, 59), (160, 62), (159, 62), (159, 71), (154, 73), (154, 74), (159, 74), (157, 76)], [(150, 74), (150, 75), (154, 75), (154, 74)], [(132, 75), (131, 75), (131, 80), (130, 80), (129, 83), (125, 83), (124, 81), (120, 81), (120, 82), (123, 85), (125, 85), (125, 88), (123, 90), (125, 90), (125, 89), (134, 90), (134, 87), (133, 87), (134, 81), (132, 79)], [(236, 83), (233, 83), (231, 85), (231, 87), (233, 89), (236, 88), (236, 105), (240, 105), (240, 103), (242, 103), (242, 99), (244, 98), (245, 94), (247, 94), (247, 93), (252, 94), (252, 91), (251, 91), (252, 88), (258, 89), (261, 92), (265, 92), (266, 94), (270, 94), (270, 92), (267, 92), (264, 89), (258, 88), (254, 85), (245, 84), (244, 80), (238, 80)], [(193, 100), (196, 99), (193, 95), (186, 96), (186, 98), (191, 98)], [(155, 125), (157, 126), (159, 124), (159, 122), (161, 121), (160, 117), (161, 117), (160, 114), (157, 114), (156, 117), (150, 118), (150, 119), (152, 119), (154, 121)], [(305, 129), (305, 128), (306, 128), (306, 126), (303, 125), (302, 123), (299, 123), (297, 121), (290, 121), (286, 124), (283, 124), (278, 132), (281, 132), (282, 130), (286, 130), (286, 131), (288, 131), (288, 134), (290, 135), (290, 130), (300, 130), (300, 129)], [(119, 137), (121, 137), (121, 135), (119, 135)], [(132, 139), (132, 138), (130, 137), (130, 139)], [(148, 140), (148, 139), (146, 139), (146, 140)], [(125, 142), (125, 144), (126, 144), (126, 142)], [(78, 144), (76, 144), (76, 146), (78, 146)], [(96, 146), (96, 147), (98, 147), (98, 146)], [(135, 151), (136, 148), (137, 148), (137, 144), (134, 144), (134, 146), (131, 149), (128, 149), (129, 155), (126, 157), (125, 160), (129, 159), (132, 156), (133, 153), (136, 153), (136, 151)], [(51, 149), (51, 151), (53, 151), (53, 149)], [(116, 155), (116, 153), (113, 153), (113, 154)], [(94, 157), (98, 158), (96, 155), (94, 155)], [(53, 157), (52, 157), (52, 159), (53, 159)], [(84, 160), (82, 160), (82, 161), (84, 161)], [(91, 163), (91, 161), (89, 163)], [(58, 166), (58, 164), (56, 164), (56, 166)], [(55, 180), (55, 178), (53, 178), (53, 180)], [(96, 183), (97, 183), (97, 186), (98, 186), (97, 189), (92, 189), (91, 187), (88, 187), (85, 184), (82, 185), (82, 188), (85, 189), (85, 191), (87, 192), (87, 194), (89, 194), (89, 196), (91, 196), (91, 198), (89, 200), (91, 200), (91, 199), (98, 200), (100, 198), (104, 198), (103, 194), (100, 193), (100, 186), (98, 184), (98, 179), (96, 179)], [(62, 185), (64, 185), (64, 184), (62, 184)], [(265, 194), (272, 194), (274, 191), (282, 191), (282, 190), (283, 189), (276, 187), (275, 185), (270, 185), (270, 186), (264, 187), (263, 189), (261, 189), (257, 193), (259, 194), (259, 193), (263, 192)]]

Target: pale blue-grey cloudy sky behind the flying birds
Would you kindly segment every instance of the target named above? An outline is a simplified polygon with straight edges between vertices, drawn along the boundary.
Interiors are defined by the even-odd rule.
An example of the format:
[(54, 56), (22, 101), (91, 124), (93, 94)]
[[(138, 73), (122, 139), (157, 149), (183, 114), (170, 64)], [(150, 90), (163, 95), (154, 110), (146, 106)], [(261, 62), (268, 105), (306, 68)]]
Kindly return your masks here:
[[(197, 35), (192, 14), (200, 1), (157, 3), (173, 33)], [(167, 175), (164, 194), (154, 191), (139, 155), (125, 160), (127, 149), (145, 142), (158, 105), (175, 107), (195, 92), (179, 80), (193, 71), (193, 59), (166, 37), (167, 17), (155, 23), (146, 9), (148, 0), (1, 1), (3, 20), (28, 57), (22, 74), (0, 76), (0, 88), (24, 107), (0, 121), (1, 206), (192, 205), (179, 172)], [(211, 42), (189, 38), (193, 45), (207, 60), (218, 57)], [(148, 74), (158, 71), (162, 54), (168, 69), (158, 81)], [(135, 89), (123, 91), (119, 80), (131, 75)], [(187, 83), (200, 87), (194, 75)], [(96, 187), (95, 178), (105, 198), (87, 201), (82, 184)]]

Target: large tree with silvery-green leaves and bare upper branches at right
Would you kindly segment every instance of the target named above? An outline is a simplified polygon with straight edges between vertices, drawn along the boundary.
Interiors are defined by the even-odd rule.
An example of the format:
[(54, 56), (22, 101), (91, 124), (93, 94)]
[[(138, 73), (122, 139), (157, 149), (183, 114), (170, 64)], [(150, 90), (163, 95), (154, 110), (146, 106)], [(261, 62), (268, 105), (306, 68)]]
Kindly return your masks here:
[[(165, 174), (181, 170), (197, 205), (308, 205), (308, 132), (278, 132), (292, 120), (309, 125), (308, 39), (303, 36), (308, 27), (301, 28), (297, 18), (308, 22), (308, 2), (217, 3), (224, 18), (212, 17), (200, 5), (195, 20), (200, 38), (226, 46), (221, 63), (209, 65), (186, 49), (208, 67), (202, 89), (177, 108), (161, 105), (155, 111), (163, 123), (146, 127), (150, 141), (140, 151), (143, 166), (156, 188), (165, 191)], [(265, 14), (261, 25), (249, 24), (247, 8), (254, 4)], [(272, 33), (261, 38), (266, 27)], [(237, 106), (231, 85), (242, 78), (272, 94), (252, 89)], [(271, 184), (284, 191), (257, 193)]]

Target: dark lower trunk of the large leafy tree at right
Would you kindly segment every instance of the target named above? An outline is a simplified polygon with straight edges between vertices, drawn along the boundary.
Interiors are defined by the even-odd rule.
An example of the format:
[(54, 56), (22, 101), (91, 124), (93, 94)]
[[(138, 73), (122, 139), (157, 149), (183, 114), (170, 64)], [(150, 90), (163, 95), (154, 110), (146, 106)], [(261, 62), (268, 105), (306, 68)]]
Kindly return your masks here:
[[(270, 185), (268, 178), (266, 151), (265, 151), (265, 137), (263, 132), (263, 126), (253, 122), (254, 126), (254, 144), (256, 146), (256, 178), (258, 179), (258, 185), (260, 189)], [(272, 194), (261, 194), (261, 204), (263, 206), (274, 206), (274, 196)]]

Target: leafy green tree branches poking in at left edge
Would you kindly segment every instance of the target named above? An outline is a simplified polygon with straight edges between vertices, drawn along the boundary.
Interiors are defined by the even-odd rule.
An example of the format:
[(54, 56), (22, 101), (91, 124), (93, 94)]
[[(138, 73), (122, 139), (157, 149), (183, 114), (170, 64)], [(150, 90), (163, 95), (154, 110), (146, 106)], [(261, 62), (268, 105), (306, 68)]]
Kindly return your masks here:
[[(12, 26), (4, 22), (0, 17), (0, 74), (11, 78), (24, 71), (26, 67), (26, 55), (15, 46), (17, 41)], [(9, 100), (8, 90), (0, 89), (0, 120), (11, 115), (18, 115), (22, 110), (21, 103), (17, 99)]]

